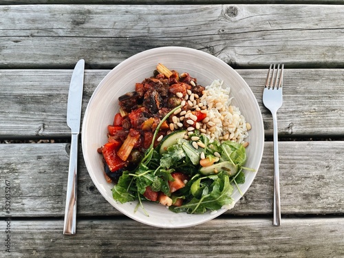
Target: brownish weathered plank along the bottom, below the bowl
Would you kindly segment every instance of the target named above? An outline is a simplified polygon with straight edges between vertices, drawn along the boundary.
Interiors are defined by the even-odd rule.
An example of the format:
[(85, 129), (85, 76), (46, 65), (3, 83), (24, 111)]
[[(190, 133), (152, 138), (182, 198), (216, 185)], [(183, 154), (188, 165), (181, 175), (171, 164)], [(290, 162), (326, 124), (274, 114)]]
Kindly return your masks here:
[(62, 228), (62, 220), (12, 220), (12, 257), (344, 255), (343, 217), (283, 219), (280, 227), (272, 226), (269, 219), (214, 219), (175, 230), (144, 226), (129, 219), (79, 219), (73, 236), (62, 235)]

